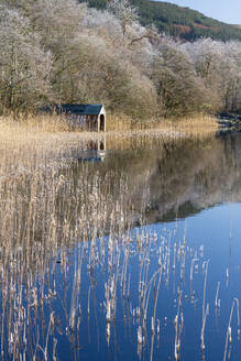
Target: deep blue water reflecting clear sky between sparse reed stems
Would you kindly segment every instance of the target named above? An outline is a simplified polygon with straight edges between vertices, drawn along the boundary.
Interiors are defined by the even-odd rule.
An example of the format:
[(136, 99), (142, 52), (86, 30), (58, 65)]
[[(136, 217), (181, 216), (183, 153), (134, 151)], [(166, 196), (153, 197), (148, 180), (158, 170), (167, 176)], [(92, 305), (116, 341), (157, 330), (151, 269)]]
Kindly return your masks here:
[[(153, 360), (174, 360), (175, 327), (174, 319), (177, 314), (178, 292), (182, 289), (180, 311), (184, 317), (184, 325), (180, 335), (180, 360), (222, 360), (226, 346), (226, 333), (229, 322), (230, 310), (234, 298), (241, 299), (241, 204), (226, 204), (204, 210), (200, 214), (187, 217), (183, 220), (172, 222), (155, 223), (144, 227), (142, 230), (134, 229), (131, 232), (132, 242), (129, 244), (119, 244), (120, 263), (119, 266), (108, 269), (108, 237), (101, 240), (106, 250), (106, 256), (102, 265), (96, 262), (90, 267), (89, 252), (81, 265), (81, 283), (78, 291), (77, 310), (79, 317), (79, 328), (75, 325), (69, 328), (64, 317), (64, 300), (67, 313), (73, 294), (74, 267), (79, 262), (78, 244), (76, 251), (73, 251), (69, 258), (69, 269), (67, 278), (64, 281), (63, 274), (57, 273), (57, 296), (53, 299), (52, 306), (55, 316), (59, 318), (59, 325), (63, 335), (57, 335), (57, 351), (61, 360), (70, 360), (80, 358), (81, 360), (150, 360), (151, 342), (154, 337)], [(135, 234), (143, 231), (147, 236), (147, 245), (143, 245), (136, 251)], [(150, 236), (151, 234), (151, 236)], [(156, 234), (156, 236), (153, 236)], [(169, 242), (169, 274), (167, 269), (163, 272), (163, 278), (160, 286), (156, 319), (160, 320), (160, 333), (155, 331), (152, 336), (151, 317), (154, 307), (154, 286), (150, 292), (147, 315), (146, 315), (146, 335), (145, 341), (138, 346), (138, 326), (141, 320), (131, 315), (131, 309), (140, 305), (139, 300), (139, 277), (140, 266), (146, 248), (149, 249), (149, 271), (147, 280), (160, 269), (157, 262), (161, 237)], [(176, 255), (176, 267), (173, 270), (174, 244), (183, 244), (185, 238), (185, 270), (183, 281), (180, 282), (180, 260)], [(117, 247), (116, 243), (114, 248)], [(101, 245), (102, 247), (102, 245)], [(101, 248), (97, 241), (96, 252)], [(201, 249), (200, 249), (201, 248)], [(204, 251), (202, 251), (204, 249)], [(121, 287), (121, 272), (123, 270), (124, 252), (130, 252), (127, 266), (127, 289), (130, 274), (130, 289), (123, 296)], [(198, 258), (198, 271), (194, 271), (193, 285), (190, 285), (190, 263), (191, 259)], [(182, 256), (180, 256), (182, 259)], [(205, 272), (202, 272), (204, 262), (209, 260), (207, 273), (207, 291), (205, 308), (209, 304), (205, 327), (205, 350), (200, 350), (200, 332), (202, 324), (202, 296)], [(58, 265), (61, 269), (61, 265)], [(228, 276), (227, 276), (228, 270)], [(61, 271), (61, 270), (59, 270)], [(105, 284), (111, 275), (119, 274), (117, 282), (117, 309), (116, 315), (110, 321), (109, 340), (106, 335), (106, 309)], [(216, 307), (217, 285), (220, 282), (218, 299), (220, 307)], [(62, 285), (59, 287), (59, 285)], [(66, 287), (66, 294), (64, 288)], [(194, 299), (191, 294), (195, 292)], [(88, 297), (89, 294), (89, 297)], [(88, 315), (89, 298), (89, 315)], [(237, 308), (234, 307), (231, 321), (232, 343), (228, 344), (231, 360), (239, 360), (241, 355), (241, 341), (238, 339)], [(50, 349), (52, 337), (50, 338)], [(140, 348), (138, 354), (138, 348)], [(50, 353), (51, 354), (51, 353)], [(228, 355), (227, 355), (228, 359)]]

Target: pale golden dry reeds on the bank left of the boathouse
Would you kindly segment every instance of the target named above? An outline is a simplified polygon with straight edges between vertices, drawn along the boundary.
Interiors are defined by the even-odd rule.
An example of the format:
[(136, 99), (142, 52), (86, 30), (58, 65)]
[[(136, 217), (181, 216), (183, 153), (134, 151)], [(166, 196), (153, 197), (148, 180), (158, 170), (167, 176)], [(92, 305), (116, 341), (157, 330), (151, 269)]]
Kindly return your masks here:
[[(98, 133), (69, 132), (57, 117), (0, 118), (0, 175), (4, 160), (18, 169), (32, 172), (41, 168), (45, 160), (51, 163), (73, 156), (86, 147), (89, 140), (98, 140)], [(35, 160), (33, 162), (33, 160)], [(36, 171), (34, 168), (34, 172)]]

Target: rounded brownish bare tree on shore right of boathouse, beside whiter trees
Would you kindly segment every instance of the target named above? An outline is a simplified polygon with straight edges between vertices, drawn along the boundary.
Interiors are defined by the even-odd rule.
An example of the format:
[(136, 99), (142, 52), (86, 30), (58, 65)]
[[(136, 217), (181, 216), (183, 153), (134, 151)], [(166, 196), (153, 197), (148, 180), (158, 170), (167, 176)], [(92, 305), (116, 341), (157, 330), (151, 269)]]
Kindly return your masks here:
[(154, 57), (152, 78), (166, 116), (186, 116), (202, 110), (205, 91), (191, 63), (176, 44), (164, 43)]

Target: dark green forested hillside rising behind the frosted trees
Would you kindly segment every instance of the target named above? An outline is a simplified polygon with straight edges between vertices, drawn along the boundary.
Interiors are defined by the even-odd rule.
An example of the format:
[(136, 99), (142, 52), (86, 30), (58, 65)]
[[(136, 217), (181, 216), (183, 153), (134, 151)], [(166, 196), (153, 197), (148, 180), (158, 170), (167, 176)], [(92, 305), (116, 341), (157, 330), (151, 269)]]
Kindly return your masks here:
[[(81, 2), (81, 0), (79, 0)], [(90, 7), (105, 9), (109, 0), (87, 0)], [(130, 0), (139, 9), (140, 22), (146, 26), (155, 24), (161, 32), (187, 41), (198, 37), (213, 40), (241, 41), (241, 25), (229, 25), (208, 18), (189, 8), (182, 8), (169, 2), (150, 0)]]

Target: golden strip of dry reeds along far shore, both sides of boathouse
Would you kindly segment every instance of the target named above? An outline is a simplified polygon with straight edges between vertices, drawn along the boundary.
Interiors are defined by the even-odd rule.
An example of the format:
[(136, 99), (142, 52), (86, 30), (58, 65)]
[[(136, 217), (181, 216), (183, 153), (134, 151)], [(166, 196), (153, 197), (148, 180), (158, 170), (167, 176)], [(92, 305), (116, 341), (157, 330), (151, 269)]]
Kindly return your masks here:
[[(75, 157), (91, 141), (103, 141), (107, 150), (152, 147), (156, 142), (183, 138), (205, 138), (217, 130), (212, 118), (199, 117), (179, 121), (162, 120), (156, 123), (133, 125), (130, 118), (110, 116), (106, 133), (72, 132), (58, 117), (39, 116), (0, 118), (0, 176), (35, 172), (46, 158), (50, 163)], [(4, 161), (6, 160), (6, 161)], [(8, 167), (6, 163), (8, 162)], [(11, 169), (11, 172), (10, 172)]]

